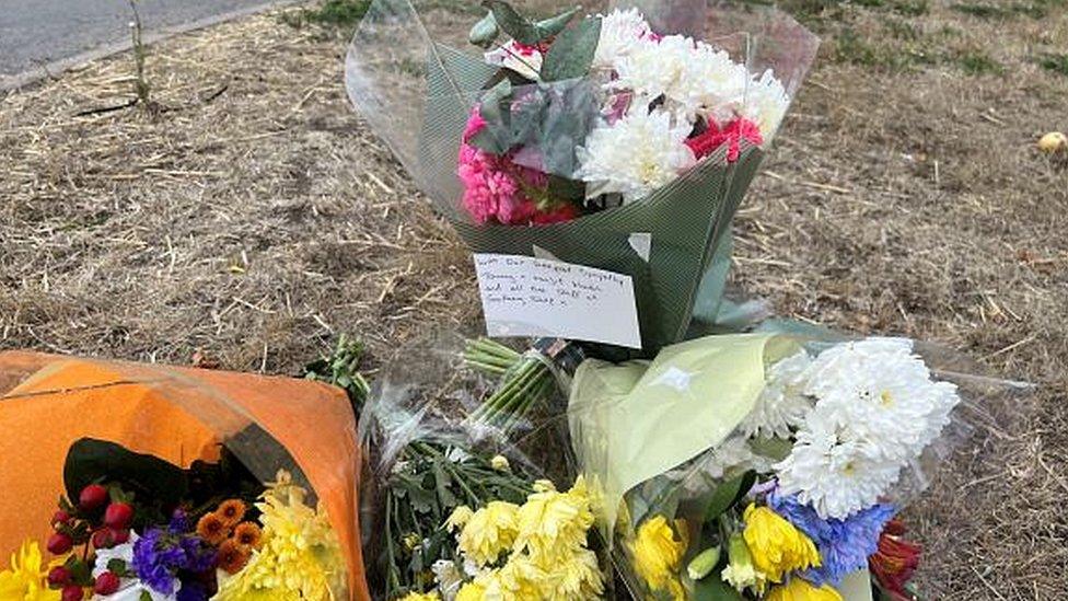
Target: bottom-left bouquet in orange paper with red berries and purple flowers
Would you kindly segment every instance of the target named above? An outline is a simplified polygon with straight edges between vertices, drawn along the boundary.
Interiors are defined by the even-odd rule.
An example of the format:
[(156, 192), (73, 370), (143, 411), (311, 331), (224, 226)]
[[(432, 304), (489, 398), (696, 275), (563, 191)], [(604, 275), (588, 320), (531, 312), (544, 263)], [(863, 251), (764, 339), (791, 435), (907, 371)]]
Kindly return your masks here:
[(337, 389), (5, 352), (0, 428), (0, 599), (369, 598)]

